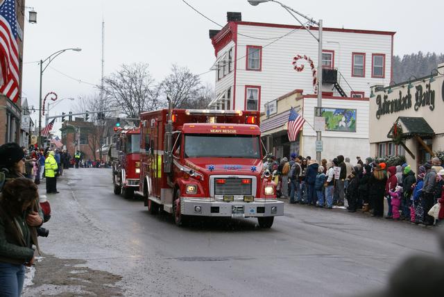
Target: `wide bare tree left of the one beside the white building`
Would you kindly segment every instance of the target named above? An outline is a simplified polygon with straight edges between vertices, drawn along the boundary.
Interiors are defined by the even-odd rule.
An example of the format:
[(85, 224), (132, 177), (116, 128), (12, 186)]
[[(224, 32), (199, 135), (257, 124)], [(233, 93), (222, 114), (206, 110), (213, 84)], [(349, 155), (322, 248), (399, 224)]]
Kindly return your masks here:
[(127, 117), (139, 117), (141, 112), (155, 110), (160, 105), (160, 86), (155, 85), (146, 63), (122, 65), (103, 78), (103, 93)]

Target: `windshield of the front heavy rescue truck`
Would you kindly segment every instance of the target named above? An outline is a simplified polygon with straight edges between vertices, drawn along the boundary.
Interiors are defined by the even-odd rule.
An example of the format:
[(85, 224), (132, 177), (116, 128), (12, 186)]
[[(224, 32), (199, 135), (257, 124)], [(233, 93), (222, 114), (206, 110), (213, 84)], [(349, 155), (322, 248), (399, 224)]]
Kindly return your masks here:
[(185, 158), (261, 158), (257, 135), (185, 135)]

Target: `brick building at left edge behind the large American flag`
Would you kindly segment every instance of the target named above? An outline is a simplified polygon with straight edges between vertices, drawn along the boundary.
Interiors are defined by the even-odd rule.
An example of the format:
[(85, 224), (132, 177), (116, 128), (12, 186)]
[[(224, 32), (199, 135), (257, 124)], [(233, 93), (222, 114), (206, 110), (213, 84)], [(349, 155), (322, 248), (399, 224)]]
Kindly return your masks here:
[(15, 1), (15, 11), (19, 46), (19, 100), (13, 103), (8, 97), (0, 94), (0, 144), (20, 142), (25, 0)]

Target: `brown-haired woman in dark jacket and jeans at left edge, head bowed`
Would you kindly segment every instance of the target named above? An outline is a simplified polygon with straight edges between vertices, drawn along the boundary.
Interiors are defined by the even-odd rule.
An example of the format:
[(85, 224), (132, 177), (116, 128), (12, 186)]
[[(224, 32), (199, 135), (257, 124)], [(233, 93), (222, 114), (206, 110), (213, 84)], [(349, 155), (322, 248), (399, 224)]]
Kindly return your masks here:
[(29, 178), (8, 180), (3, 186), (0, 198), (0, 296), (22, 294), (24, 266), (33, 264), (33, 246), (38, 247), (35, 225), (39, 221), (29, 217), (37, 200), (37, 185)]

